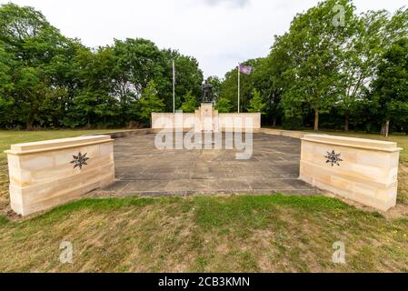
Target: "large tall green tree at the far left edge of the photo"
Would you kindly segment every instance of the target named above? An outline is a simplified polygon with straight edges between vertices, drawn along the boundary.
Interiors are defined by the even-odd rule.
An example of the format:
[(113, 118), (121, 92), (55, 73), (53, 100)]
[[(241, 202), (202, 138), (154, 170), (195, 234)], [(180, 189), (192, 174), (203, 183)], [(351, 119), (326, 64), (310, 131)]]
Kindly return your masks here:
[(11, 64), (8, 74), (12, 75), (13, 85), (3, 96), (9, 105), (13, 104), (7, 114), (9, 122), (27, 128), (57, 125), (67, 100), (55, 99), (59, 102), (55, 106), (61, 110), (58, 116), (51, 117), (45, 110), (47, 95), (52, 90), (65, 91), (60, 88), (70, 84), (73, 75), (67, 71), (75, 54), (75, 42), (61, 35), (34, 8), (7, 4), (0, 8), (0, 43)]

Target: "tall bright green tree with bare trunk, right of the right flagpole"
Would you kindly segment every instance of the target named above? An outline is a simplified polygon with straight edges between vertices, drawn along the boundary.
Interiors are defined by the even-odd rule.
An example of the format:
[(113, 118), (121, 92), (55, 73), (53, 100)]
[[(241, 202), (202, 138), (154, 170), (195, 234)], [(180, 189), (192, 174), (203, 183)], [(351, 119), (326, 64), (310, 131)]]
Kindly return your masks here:
[(338, 11), (344, 7), (345, 23), (353, 15), (349, 0), (327, 0), (296, 15), (290, 30), (276, 38), (275, 49), (286, 52), (287, 66), (283, 94), (285, 114), (293, 115), (293, 108), (307, 105), (314, 114), (314, 130), (319, 130), (319, 117), (329, 112), (338, 100), (341, 66), (338, 55), (346, 35), (347, 25), (333, 22)]

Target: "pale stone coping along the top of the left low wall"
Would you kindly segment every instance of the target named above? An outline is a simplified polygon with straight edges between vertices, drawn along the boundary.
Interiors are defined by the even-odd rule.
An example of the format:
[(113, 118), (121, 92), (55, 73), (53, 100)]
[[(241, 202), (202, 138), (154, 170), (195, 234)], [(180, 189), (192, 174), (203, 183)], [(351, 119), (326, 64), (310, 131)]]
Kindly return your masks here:
[(62, 150), (78, 146), (92, 146), (110, 143), (114, 140), (110, 135), (83, 135), (78, 137), (51, 139), (39, 142), (12, 145), (5, 151), (8, 155), (22, 156), (34, 153)]

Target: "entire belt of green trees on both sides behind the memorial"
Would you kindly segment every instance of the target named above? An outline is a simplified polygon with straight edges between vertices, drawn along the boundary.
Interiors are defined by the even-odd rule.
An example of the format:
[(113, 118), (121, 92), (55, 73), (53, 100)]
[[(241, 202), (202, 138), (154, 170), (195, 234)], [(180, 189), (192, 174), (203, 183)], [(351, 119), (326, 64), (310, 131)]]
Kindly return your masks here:
[[(333, 18), (343, 5), (344, 24)], [(295, 15), (271, 52), (250, 59), (241, 75), (241, 111), (262, 112), (268, 125), (408, 133), (402, 39), (408, 9), (357, 15), (352, 0), (324, 0)], [(192, 112), (202, 96), (198, 61), (143, 38), (91, 49), (70, 39), (33, 7), (0, 6), (0, 127), (119, 127), (149, 124), (150, 113)], [(235, 67), (210, 76), (219, 112), (237, 111)], [(154, 82), (154, 97), (146, 90)], [(255, 91), (254, 91), (255, 90)], [(254, 95), (256, 92), (256, 96)], [(164, 105), (164, 106), (163, 106)], [(146, 107), (144, 107), (146, 106)]]

